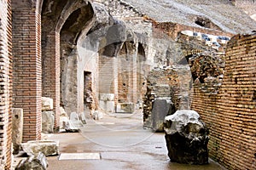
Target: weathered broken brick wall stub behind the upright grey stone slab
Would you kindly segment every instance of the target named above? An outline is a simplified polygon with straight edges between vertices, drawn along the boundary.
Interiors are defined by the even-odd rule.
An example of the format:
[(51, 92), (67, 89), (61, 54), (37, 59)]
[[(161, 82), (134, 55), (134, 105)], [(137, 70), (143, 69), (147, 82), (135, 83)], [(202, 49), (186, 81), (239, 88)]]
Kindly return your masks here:
[(147, 94), (143, 104), (144, 127), (151, 127), (151, 112), (154, 99), (170, 98), (175, 110), (189, 109), (190, 81), (189, 66), (179, 65), (157, 68), (149, 71), (147, 77)]

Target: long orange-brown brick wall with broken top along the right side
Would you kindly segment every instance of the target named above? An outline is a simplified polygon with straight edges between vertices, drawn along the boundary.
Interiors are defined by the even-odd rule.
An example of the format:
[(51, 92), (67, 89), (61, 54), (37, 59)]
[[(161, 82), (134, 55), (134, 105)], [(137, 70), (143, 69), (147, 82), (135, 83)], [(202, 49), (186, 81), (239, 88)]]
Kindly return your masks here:
[(191, 107), (210, 128), (209, 155), (229, 169), (256, 169), (255, 54), (255, 34), (233, 37), (218, 94), (194, 86)]

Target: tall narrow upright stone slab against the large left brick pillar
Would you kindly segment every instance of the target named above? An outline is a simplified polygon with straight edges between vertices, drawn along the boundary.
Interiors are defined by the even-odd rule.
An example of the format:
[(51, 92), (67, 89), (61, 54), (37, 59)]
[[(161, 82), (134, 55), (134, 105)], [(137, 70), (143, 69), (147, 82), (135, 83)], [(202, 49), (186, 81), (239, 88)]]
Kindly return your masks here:
[(13, 154), (18, 154), (20, 150), (20, 144), (22, 142), (23, 132), (23, 109), (12, 109), (12, 143)]

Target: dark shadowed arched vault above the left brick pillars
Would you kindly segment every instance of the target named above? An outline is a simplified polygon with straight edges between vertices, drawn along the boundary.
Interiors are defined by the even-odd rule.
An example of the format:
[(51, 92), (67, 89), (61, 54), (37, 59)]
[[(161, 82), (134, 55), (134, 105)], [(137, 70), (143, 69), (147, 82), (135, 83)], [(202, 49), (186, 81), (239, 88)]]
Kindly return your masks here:
[(44, 0), (42, 31), (61, 33), (61, 40), (76, 44), (88, 21), (94, 18), (94, 9), (88, 0)]

